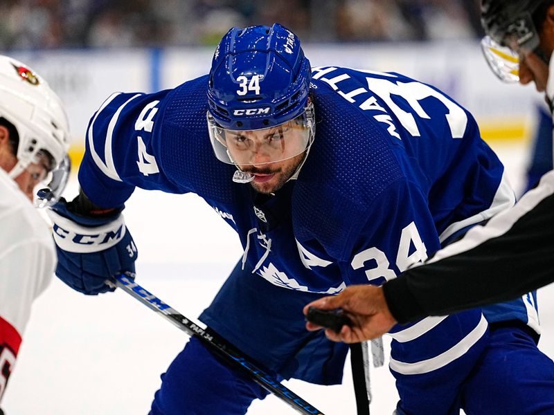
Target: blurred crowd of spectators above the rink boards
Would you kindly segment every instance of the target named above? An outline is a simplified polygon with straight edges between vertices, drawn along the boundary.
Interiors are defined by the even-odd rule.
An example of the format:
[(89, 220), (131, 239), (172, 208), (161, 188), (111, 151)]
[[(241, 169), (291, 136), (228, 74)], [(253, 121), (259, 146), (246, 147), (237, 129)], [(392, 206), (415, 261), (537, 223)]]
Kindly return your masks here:
[(0, 0), (0, 49), (213, 45), (275, 21), (305, 42), (481, 36), (479, 0)]

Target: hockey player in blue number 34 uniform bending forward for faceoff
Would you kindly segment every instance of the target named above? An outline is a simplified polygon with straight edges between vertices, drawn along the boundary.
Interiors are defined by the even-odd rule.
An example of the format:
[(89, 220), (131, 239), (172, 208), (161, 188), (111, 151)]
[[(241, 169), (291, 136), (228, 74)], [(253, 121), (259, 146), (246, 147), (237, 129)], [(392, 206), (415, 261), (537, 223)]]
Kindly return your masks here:
[[(135, 187), (193, 192), (244, 247), (199, 319), (278, 378), (321, 385), (341, 382), (348, 349), (305, 330), (307, 302), (393, 279), (514, 203), (503, 166), (454, 100), (397, 73), (310, 70), (278, 24), (231, 29), (206, 76), (111, 95), (89, 123), (79, 180), (80, 194), (51, 212), (66, 284), (103, 293), (105, 279), (134, 271), (121, 211)], [(524, 398), (506, 412), (483, 388), (517, 396), (521, 378), (540, 379), (535, 360), (515, 358), (517, 342), (506, 360), (490, 341), (488, 325), (503, 320), (532, 341), (535, 297), (395, 327), (397, 412), (538, 413)], [(266, 394), (191, 339), (151, 414), (244, 414)]]

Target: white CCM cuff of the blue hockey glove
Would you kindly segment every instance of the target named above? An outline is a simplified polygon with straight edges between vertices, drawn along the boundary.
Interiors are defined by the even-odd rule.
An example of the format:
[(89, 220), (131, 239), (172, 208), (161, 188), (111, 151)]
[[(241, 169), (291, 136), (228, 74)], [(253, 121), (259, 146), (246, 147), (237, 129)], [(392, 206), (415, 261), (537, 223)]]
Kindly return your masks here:
[(53, 221), (56, 245), (67, 252), (99, 252), (115, 246), (127, 232), (123, 214), (105, 225), (95, 227), (79, 225), (54, 210), (48, 210), (47, 214)]

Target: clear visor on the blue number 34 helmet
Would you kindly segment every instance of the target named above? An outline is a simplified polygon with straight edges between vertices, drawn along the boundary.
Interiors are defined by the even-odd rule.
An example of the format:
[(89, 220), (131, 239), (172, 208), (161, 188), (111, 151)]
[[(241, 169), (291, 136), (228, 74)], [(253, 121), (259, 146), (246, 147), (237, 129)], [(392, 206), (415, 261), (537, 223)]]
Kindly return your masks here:
[(219, 127), (208, 112), (208, 131), (215, 156), (240, 167), (265, 165), (302, 154), (314, 140), (314, 106), (300, 116), (274, 127), (230, 130)]

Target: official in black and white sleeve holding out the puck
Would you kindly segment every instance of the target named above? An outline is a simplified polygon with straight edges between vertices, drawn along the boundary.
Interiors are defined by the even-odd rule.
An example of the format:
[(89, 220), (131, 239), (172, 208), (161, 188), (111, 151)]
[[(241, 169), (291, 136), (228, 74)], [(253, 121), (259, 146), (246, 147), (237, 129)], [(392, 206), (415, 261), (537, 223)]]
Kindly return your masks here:
[[(481, 16), (488, 35), (483, 51), (490, 68), (506, 82), (534, 82), (537, 91), (546, 93), (552, 111), (554, 1), (483, 0)], [(514, 208), (470, 230), (424, 266), (411, 268), (382, 287), (351, 286), (310, 305), (345, 308), (352, 317), (352, 329), (344, 326), (340, 334), (326, 333), (332, 340), (359, 342), (386, 333), (395, 322), (505, 301), (550, 284), (553, 258), (551, 170)]]

